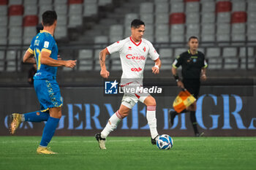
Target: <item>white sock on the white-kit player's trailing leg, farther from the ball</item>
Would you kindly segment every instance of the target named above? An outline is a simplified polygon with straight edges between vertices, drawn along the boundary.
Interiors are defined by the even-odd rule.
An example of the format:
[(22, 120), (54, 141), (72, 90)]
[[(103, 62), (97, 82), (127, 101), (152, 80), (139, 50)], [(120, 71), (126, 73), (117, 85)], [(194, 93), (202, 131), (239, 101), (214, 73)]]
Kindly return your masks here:
[(119, 110), (116, 111), (115, 114), (113, 114), (110, 119), (108, 120), (107, 125), (105, 126), (105, 128), (103, 129), (103, 131), (100, 133), (102, 138), (106, 138), (111, 131), (113, 131), (114, 129), (116, 129), (116, 126), (118, 125), (118, 123), (123, 119), (124, 117), (121, 117)]

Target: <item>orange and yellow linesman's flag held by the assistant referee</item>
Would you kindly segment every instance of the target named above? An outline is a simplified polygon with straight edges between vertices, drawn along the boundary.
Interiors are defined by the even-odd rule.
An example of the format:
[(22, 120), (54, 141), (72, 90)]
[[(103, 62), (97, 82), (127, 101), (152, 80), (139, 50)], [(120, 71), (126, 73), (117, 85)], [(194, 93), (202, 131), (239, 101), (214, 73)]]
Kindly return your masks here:
[(173, 101), (173, 109), (180, 113), (182, 110), (189, 107), (192, 103), (196, 101), (195, 97), (192, 96), (188, 90), (183, 89), (178, 96)]

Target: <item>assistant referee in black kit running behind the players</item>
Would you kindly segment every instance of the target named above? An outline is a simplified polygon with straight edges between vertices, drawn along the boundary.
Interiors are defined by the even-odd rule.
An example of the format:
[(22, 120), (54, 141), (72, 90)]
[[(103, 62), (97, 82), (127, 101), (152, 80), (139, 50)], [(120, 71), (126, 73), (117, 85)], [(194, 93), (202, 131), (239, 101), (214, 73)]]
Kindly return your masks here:
[[(189, 37), (189, 50), (178, 57), (173, 62), (172, 73), (178, 87), (186, 88), (195, 98), (197, 98), (200, 90), (200, 79), (206, 80), (206, 63), (205, 55), (198, 48), (198, 38), (196, 36)], [(178, 77), (177, 68), (181, 66), (182, 80)], [(190, 111), (190, 120), (193, 125), (195, 136), (203, 136), (203, 132), (199, 133), (197, 129), (197, 120), (195, 111), (197, 109), (196, 101), (182, 112)], [(175, 111), (170, 111), (170, 123), (173, 125), (173, 120), (178, 115)]]

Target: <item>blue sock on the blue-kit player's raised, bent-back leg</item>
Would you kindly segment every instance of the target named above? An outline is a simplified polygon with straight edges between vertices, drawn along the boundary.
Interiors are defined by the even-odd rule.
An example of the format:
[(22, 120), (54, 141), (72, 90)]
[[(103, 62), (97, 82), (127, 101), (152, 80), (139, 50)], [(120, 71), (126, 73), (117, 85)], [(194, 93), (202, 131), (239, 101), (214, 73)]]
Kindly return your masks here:
[(25, 121), (29, 121), (29, 122), (47, 121), (49, 116), (50, 115), (48, 112), (41, 112), (41, 111), (29, 112), (24, 114)]

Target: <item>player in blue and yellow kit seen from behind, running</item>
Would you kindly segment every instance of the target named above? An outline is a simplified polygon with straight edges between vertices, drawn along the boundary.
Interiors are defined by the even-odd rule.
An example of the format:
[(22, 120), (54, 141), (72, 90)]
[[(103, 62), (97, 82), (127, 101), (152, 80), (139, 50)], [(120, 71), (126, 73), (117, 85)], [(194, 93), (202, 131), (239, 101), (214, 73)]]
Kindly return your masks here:
[(52, 139), (61, 118), (62, 99), (59, 85), (56, 82), (58, 66), (74, 68), (76, 61), (58, 60), (58, 47), (53, 38), (57, 24), (55, 11), (46, 11), (42, 14), (43, 30), (31, 41), (29, 49), (23, 56), (24, 63), (37, 63), (37, 74), (34, 75), (34, 90), (41, 104), (41, 109), (25, 114), (12, 114), (10, 133), (15, 134), (20, 123), (24, 121), (47, 121), (42, 133), (42, 140), (37, 148), (39, 154), (56, 154), (49, 150), (48, 143)]

